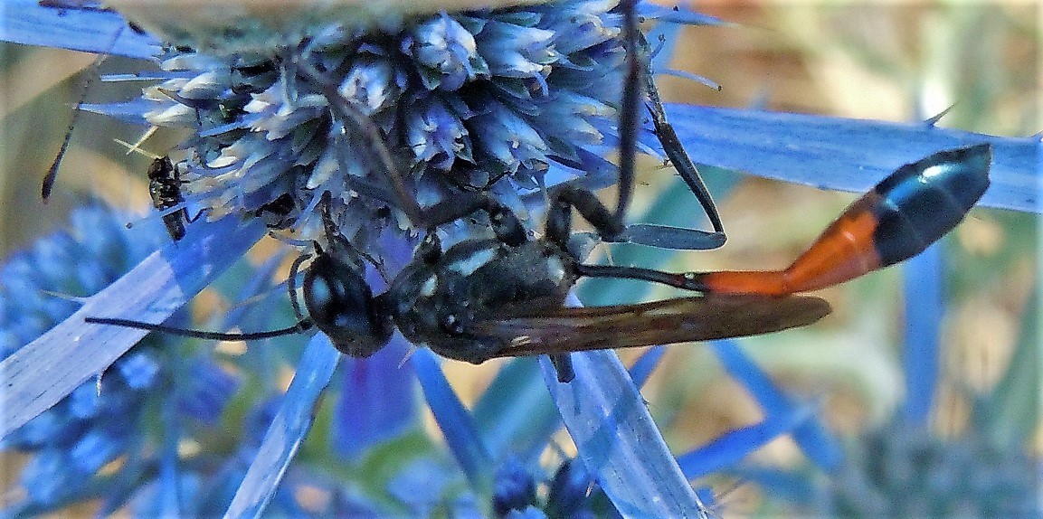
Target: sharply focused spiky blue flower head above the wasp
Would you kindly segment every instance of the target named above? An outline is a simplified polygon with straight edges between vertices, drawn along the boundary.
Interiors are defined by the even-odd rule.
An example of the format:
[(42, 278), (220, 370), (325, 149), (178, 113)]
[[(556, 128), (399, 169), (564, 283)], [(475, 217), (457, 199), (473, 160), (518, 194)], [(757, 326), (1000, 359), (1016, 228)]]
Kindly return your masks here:
[[(408, 206), (461, 192), (524, 211), (519, 190), (553, 165), (581, 173), (584, 147), (615, 131), (614, 7), (571, 0), (365, 30), (326, 21), (248, 51), (175, 42), (143, 95), (145, 119), (192, 131), (184, 192), (210, 219), (258, 216), (316, 239), (329, 192), (338, 230), (365, 248), (385, 229), (422, 228)], [(285, 194), (292, 204), (273, 203)]]

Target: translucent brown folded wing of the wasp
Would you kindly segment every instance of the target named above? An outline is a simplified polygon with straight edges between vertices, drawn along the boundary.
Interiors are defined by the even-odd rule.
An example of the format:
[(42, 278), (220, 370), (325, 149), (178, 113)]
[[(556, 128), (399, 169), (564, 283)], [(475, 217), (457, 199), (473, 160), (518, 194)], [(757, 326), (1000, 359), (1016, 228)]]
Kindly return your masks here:
[(468, 331), (509, 343), (491, 356), (523, 356), (755, 336), (811, 324), (830, 307), (809, 296), (704, 296), (516, 312)]

